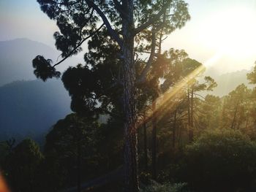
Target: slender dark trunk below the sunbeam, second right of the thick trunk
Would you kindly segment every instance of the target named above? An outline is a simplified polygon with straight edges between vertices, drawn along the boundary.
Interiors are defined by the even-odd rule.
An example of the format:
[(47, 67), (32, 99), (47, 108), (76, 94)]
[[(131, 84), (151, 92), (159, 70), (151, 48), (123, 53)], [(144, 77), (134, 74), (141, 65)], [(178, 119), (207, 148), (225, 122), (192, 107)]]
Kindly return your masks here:
[(152, 102), (152, 178), (157, 179), (157, 119), (156, 119), (156, 100)]

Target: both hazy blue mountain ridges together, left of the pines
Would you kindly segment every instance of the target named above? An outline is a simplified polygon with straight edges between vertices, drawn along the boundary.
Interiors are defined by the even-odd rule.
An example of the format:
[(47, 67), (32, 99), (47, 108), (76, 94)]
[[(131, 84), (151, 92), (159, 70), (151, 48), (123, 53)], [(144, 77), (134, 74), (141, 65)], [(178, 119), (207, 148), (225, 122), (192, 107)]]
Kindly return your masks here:
[(57, 120), (71, 112), (61, 80), (35, 80), (31, 61), (36, 55), (56, 58), (58, 52), (29, 39), (0, 42), (0, 140), (42, 139)]

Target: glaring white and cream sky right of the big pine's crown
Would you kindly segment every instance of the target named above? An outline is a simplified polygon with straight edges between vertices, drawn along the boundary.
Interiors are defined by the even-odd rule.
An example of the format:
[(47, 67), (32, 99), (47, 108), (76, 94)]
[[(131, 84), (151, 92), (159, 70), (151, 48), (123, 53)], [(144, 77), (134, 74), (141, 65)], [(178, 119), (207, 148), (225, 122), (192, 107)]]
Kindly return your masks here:
[(192, 19), (166, 39), (217, 73), (251, 69), (256, 61), (255, 0), (187, 0)]

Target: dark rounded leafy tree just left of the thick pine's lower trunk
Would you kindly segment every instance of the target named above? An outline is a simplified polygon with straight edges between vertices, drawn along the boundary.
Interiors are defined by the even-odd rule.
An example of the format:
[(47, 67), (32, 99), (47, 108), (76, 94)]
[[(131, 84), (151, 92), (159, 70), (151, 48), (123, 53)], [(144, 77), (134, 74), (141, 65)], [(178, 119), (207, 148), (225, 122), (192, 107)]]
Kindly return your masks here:
[[(94, 165), (97, 164), (97, 133), (99, 124), (96, 118), (80, 118), (71, 114), (64, 120), (59, 120), (46, 136), (46, 160), (51, 166), (61, 169), (63, 183), (66, 185), (73, 184), (73, 180), (67, 175), (76, 178), (78, 191), (81, 191), (82, 179), (90, 176), (89, 165), (96, 173)], [(53, 180), (58, 180), (58, 177), (59, 174)]]

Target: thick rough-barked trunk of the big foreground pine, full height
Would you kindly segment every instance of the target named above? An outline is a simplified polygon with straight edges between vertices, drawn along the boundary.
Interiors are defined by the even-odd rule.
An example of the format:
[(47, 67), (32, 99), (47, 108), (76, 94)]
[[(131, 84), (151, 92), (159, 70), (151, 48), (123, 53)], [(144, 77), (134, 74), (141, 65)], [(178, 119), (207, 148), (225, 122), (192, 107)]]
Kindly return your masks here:
[(133, 1), (123, 1), (127, 18), (122, 20), (123, 110), (124, 110), (124, 191), (138, 192), (138, 133), (135, 127), (135, 64)]

